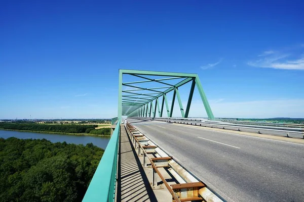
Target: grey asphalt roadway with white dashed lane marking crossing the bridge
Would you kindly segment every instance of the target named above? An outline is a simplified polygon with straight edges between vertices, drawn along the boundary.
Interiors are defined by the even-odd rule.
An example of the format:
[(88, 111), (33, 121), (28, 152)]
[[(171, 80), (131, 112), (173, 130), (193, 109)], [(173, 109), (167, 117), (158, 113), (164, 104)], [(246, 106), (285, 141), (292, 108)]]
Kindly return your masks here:
[(132, 124), (227, 201), (304, 201), (303, 144), (158, 121)]

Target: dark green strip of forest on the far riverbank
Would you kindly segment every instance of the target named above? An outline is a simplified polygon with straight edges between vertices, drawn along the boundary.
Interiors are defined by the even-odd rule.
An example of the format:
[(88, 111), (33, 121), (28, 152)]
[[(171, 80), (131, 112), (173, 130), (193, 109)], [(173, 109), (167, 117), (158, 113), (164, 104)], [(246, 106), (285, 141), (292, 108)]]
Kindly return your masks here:
[(85, 133), (88, 128), (95, 128), (98, 125), (62, 125), (62, 124), (22, 124), (22, 123), (0, 123), (0, 128), (10, 130), (27, 130), (40, 132), (61, 132), (61, 133)]

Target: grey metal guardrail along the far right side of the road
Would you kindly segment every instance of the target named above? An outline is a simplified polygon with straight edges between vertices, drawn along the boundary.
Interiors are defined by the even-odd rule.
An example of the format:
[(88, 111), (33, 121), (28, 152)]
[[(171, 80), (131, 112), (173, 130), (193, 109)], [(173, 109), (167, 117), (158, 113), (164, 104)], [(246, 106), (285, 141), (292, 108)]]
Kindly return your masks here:
[(180, 123), (195, 126), (205, 126), (219, 129), (237, 130), (242, 132), (254, 132), (259, 134), (279, 135), (285, 137), (304, 138), (304, 131), (302, 128), (287, 128), (287, 127), (273, 127), (273, 126), (254, 126), (254, 125), (238, 125), (238, 124), (225, 124), (225, 123), (208, 123), (208, 122), (195, 122), (195, 121), (179, 121), (177, 119), (168, 118), (155, 118), (156, 121), (165, 121), (171, 123)]

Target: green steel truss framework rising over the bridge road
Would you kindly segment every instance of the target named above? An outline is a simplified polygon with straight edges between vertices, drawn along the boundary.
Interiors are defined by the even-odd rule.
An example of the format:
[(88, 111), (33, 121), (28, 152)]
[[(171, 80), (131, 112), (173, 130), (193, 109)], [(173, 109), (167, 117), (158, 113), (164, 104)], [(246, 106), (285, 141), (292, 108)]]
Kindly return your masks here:
[[(123, 83), (123, 75), (130, 75), (132, 78), (140, 78), (140, 81), (131, 81)], [(155, 77), (165, 78), (155, 78)], [(180, 80), (172, 84), (171, 80)], [(170, 83), (170, 82), (171, 83)], [(144, 87), (146, 83), (151, 82), (163, 85), (160, 87)], [(188, 102), (184, 110), (179, 95), (178, 88), (188, 82), (192, 82), (189, 92)], [(177, 97), (181, 116), (187, 118), (191, 107), (193, 92), (197, 86), (201, 95), (205, 110), (209, 119), (214, 119), (213, 113), (209, 106), (207, 97), (204, 93), (201, 81), (197, 74), (173, 73), (173, 72), (155, 72), (155, 71), (138, 71), (138, 70), (119, 70), (119, 102), (118, 117), (153, 117), (156, 115), (163, 117), (172, 117), (175, 98)], [(125, 88), (123, 90), (123, 88)], [(173, 91), (171, 108), (168, 106), (167, 93)], [(161, 102), (159, 100), (162, 100)], [(155, 103), (155, 106), (154, 106)], [(166, 106), (164, 108), (164, 105)], [(164, 112), (164, 110), (166, 112)]]

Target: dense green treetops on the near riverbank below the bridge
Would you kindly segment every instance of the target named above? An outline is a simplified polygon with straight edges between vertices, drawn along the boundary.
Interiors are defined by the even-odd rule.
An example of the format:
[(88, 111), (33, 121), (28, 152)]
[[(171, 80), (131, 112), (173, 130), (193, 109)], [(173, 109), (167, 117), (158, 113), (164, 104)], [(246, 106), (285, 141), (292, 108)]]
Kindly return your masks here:
[(103, 152), (92, 143), (0, 138), (1, 201), (81, 201)]

